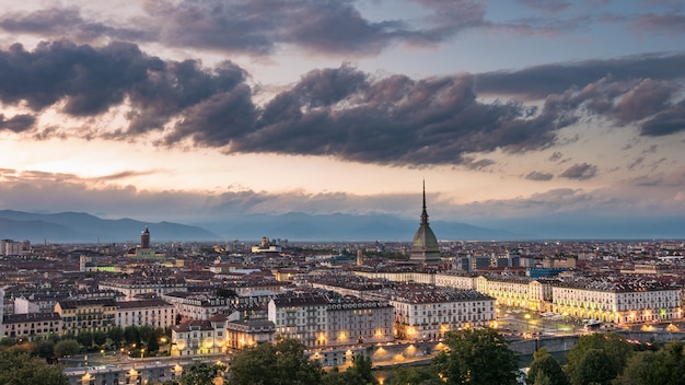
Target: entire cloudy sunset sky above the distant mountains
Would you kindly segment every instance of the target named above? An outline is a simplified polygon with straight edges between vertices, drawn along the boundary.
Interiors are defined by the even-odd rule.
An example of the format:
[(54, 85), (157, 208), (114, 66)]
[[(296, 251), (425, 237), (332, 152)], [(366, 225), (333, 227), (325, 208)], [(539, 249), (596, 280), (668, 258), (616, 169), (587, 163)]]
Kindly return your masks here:
[(682, 1), (0, 3), (0, 209), (685, 218)]

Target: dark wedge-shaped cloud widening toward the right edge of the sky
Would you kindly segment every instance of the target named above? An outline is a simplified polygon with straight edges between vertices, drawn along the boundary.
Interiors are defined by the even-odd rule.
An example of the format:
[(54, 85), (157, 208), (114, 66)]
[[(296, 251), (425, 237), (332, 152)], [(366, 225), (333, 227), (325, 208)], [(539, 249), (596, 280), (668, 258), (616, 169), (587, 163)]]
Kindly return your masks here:
[(476, 77), (476, 90), (545, 100), (557, 118), (600, 116), (619, 126), (637, 124), (642, 136), (683, 128), (685, 54), (549, 65)]

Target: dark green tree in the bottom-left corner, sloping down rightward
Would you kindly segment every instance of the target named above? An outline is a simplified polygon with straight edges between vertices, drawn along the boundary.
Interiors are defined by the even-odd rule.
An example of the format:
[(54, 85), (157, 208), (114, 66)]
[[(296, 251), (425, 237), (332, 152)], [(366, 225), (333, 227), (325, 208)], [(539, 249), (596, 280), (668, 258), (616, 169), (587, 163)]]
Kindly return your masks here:
[(0, 349), (0, 384), (67, 385), (69, 378), (58, 365), (32, 358), (14, 348)]

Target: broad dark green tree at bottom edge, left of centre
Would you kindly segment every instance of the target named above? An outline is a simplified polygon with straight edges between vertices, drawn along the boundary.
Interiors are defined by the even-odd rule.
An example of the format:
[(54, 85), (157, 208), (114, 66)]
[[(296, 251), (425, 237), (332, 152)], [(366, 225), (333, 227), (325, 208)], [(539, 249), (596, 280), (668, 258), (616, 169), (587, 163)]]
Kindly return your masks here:
[(231, 361), (230, 385), (321, 384), (323, 370), (294, 339), (280, 339), (237, 352)]

